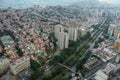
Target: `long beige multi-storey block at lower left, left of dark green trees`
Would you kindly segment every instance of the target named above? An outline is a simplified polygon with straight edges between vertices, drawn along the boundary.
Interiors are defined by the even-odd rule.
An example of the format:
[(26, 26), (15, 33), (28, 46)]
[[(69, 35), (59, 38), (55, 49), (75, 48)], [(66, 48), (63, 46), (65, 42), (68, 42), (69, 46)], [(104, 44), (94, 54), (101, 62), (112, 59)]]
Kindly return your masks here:
[(17, 75), (19, 72), (28, 69), (30, 67), (30, 59), (28, 57), (22, 57), (10, 64), (11, 73)]

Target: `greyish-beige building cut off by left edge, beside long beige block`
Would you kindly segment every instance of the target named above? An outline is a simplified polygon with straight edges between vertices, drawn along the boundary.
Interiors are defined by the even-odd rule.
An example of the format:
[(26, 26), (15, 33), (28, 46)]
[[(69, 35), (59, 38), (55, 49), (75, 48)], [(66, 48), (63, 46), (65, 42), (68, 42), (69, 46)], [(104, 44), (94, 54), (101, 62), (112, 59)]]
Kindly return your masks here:
[(0, 73), (2, 73), (10, 65), (10, 61), (7, 58), (0, 58)]

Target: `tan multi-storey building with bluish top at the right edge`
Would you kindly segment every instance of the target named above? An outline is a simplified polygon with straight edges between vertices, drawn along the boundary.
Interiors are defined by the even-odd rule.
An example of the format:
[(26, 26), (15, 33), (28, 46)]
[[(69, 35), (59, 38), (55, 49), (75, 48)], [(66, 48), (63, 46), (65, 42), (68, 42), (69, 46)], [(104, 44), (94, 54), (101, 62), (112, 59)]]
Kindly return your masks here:
[(120, 26), (111, 24), (108, 29), (108, 34), (113, 36), (115, 39), (120, 39)]

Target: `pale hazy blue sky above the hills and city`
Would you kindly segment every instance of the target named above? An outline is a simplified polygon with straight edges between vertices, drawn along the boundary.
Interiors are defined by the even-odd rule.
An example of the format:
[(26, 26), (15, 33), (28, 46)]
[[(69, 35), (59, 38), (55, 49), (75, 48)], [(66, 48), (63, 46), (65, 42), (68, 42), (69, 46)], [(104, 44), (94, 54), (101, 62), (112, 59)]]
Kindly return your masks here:
[[(81, 0), (0, 0), (0, 8), (7, 7), (29, 7), (33, 5), (68, 5), (74, 2), (79, 2)], [(83, 0), (85, 1), (85, 0)], [(94, 1), (94, 0), (90, 0)], [(98, 0), (100, 2), (106, 2), (110, 4), (120, 4), (120, 0)]]

